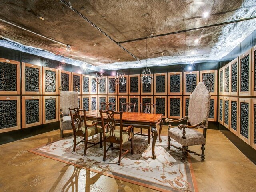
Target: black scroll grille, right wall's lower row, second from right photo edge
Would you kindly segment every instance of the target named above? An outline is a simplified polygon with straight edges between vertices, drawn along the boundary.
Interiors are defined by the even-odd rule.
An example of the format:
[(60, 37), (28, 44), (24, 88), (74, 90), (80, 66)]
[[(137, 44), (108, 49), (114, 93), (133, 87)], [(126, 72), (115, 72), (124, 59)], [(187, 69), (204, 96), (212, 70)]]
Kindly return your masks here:
[(249, 138), (249, 104), (240, 103), (240, 134)]

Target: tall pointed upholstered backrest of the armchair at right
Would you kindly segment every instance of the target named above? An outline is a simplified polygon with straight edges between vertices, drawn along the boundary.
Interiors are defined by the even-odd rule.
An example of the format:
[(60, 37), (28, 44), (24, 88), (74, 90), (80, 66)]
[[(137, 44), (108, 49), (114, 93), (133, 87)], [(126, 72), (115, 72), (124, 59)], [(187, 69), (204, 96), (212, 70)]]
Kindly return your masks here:
[(207, 128), (210, 110), (210, 94), (203, 82), (198, 83), (195, 90), (189, 97), (188, 122), (191, 125), (206, 120), (205, 125), (200, 127)]

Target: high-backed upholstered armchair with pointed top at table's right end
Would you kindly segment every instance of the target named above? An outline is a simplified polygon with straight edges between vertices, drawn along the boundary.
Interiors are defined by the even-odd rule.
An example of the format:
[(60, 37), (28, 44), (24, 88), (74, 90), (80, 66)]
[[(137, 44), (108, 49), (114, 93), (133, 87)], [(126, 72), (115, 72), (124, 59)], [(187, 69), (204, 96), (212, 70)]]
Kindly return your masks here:
[[(194, 153), (195, 155), (201, 156), (201, 160), (205, 159), (205, 140), (206, 140), (206, 130), (208, 126), (208, 116), (210, 110), (210, 94), (206, 89), (203, 82), (200, 82), (193, 93), (190, 95), (188, 104), (188, 116), (181, 118), (179, 120), (165, 119), (165, 122), (169, 122), (168, 128), (168, 149), (170, 146), (181, 149), (182, 157), (181, 161), (185, 162), (186, 157), (189, 153)], [(171, 122), (180, 122), (182, 120), (187, 120), (190, 125), (180, 124), (178, 127), (171, 128)], [(199, 132), (198, 128), (203, 129), (203, 133)], [(171, 145), (170, 140), (174, 139), (182, 145), (182, 148)], [(191, 145), (202, 145), (202, 154), (188, 150), (188, 146)]]

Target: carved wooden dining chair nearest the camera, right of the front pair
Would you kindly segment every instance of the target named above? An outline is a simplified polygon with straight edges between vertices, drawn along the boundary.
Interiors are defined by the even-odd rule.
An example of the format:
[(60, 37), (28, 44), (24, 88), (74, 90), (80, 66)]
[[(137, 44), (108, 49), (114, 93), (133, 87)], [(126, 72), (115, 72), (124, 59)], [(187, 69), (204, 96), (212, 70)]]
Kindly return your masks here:
[[(133, 126), (128, 126), (125, 130), (123, 130), (123, 123), (122, 123), (122, 114), (123, 112), (116, 112), (113, 110), (106, 110), (102, 111), (100, 110), (100, 116), (101, 116), (101, 123), (102, 123), (102, 129), (109, 130), (108, 132), (103, 131), (103, 145), (104, 145), (104, 155), (103, 155), (103, 161), (106, 160), (106, 152), (111, 148), (118, 149), (114, 147), (114, 143), (119, 144), (119, 160), (118, 165), (120, 165), (121, 157), (128, 153), (129, 150), (131, 150), (131, 154), (133, 154), (133, 133), (132, 129)], [(105, 119), (104, 119), (105, 118)], [(116, 130), (116, 120), (118, 120), (118, 125), (120, 125), (120, 130)], [(127, 150), (123, 149), (123, 144), (127, 141), (131, 142), (131, 147)], [(106, 142), (110, 142), (110, 146), (108, 149), (106, 149)], [(122, 150), (125, 152), (122, 153)]]

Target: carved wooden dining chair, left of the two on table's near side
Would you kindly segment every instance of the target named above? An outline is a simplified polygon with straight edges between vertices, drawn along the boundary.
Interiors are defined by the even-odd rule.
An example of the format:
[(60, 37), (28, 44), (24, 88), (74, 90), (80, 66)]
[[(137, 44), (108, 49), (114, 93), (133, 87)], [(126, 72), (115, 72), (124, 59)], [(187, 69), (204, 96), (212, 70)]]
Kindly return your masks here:
[[(86, 124), (86, 116), (85, 116), (85, 109), (79, 109), (79, 108), (74, 108), (71, 109), (69, 108), (70, 111), (70, 116), (71, 116), (71, 122), (72, 122), (72, 128), (73, 128), (73, 134), (74, 134), (74, 146), (73, 146), (73, 152), (76, 150), (76, 146), (80, 142), (84, 142), (84, 154), (86, 154), (86, 150), (92, 146), (95, 146), (97, 144), (100, 144), (100, 148), (102, 148), (102, 129), (101, 127), (97, 126), (97, 122), (87, 125)], [(82, 114), (82, 116), (80, 115)], [(83, 125), (84, 123), (84, 125)], [(96, 134), (100, 134), (100, 141), (97, 143), (92, 143), (88, 142), (88, 137), (94, 136)], [(81, 140), (80, 142), (76, 143), (76, 136), (83, 137), (84, 139)], [(87, 146), (87, 144), (92, 144), (91, 146)]]

